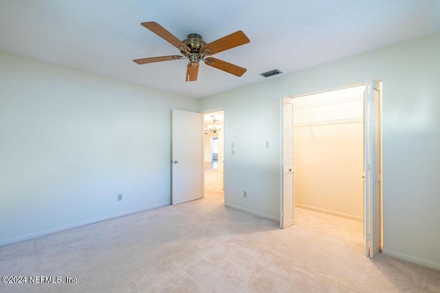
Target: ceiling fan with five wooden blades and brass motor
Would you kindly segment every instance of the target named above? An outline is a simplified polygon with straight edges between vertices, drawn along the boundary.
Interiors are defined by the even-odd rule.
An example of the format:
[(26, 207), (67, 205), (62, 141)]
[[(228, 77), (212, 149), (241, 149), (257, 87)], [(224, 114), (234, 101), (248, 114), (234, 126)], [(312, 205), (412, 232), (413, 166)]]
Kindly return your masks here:
[(232, 49), (250, 42), (249, 38), (241, 32), (241, 30), (229, 34), (228, 36), (223, 36), (218, 40), (214, 40), (211, 43), (206, 43), (199, 34), (188, 34), (188, 38), (185, 40), (179, 40), (173, 34), (164, 29), (159, 23), (150, 21), (147, 23), (141, 23), (142, 26), (146, 27), (151, 32), (157, 34), (168, 43), (177, 47), (180, 50), (181, 55), (172, 56), (160, 56), (152, 58), (142, 58), (133, 60), (139, 65), (162, 62), (169, 60), (181, 60), (188, 59), (188, 65), (186, 67), (186, 81), (193, 82), (197, 80), (197, 75), (199, 73), (199, 61), (202, 60), (206, 65), (211, 67), (226, 71), (236, 76), (241, 76), (246, 72), (246, 69), (233, 65), (229, 62), (219, 60), (213, 57), (207, 57), (213, 54), (217, 54), (221, 51)]

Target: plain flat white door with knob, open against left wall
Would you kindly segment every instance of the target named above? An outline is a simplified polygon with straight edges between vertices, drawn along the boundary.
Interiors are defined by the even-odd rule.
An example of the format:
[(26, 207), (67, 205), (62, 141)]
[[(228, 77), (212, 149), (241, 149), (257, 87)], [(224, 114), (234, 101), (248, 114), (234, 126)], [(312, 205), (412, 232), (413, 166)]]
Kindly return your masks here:
[(201, 198), (203, 126), (200, 113), (171, 111), (171, 204)]

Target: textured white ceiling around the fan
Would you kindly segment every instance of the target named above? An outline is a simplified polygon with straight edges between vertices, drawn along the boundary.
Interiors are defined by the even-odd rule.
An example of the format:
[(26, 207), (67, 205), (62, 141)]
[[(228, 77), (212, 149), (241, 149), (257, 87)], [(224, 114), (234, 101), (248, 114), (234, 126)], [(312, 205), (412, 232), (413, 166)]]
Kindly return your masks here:
[[(243, 30), (249, 44), (214, 57), (248, 71), (237, 78), (201, 64), (197, 82), (185, 82), (186, 60), (137, 65), (133, 59), (179, 54), (144, 21), (208, 43)], [(440, 0), (0, 0), (0, 50), (187, 97), (435, 32)]]

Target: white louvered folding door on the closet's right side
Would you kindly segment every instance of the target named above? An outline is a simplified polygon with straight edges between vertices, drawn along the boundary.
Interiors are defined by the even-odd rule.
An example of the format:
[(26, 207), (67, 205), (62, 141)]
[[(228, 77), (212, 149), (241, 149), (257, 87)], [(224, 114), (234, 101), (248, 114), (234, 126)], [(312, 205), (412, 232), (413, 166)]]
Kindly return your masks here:
[(380, 89), (367, 80), (364, 92), (364, 239), (365, 255), (382, 250), (382, 113)]

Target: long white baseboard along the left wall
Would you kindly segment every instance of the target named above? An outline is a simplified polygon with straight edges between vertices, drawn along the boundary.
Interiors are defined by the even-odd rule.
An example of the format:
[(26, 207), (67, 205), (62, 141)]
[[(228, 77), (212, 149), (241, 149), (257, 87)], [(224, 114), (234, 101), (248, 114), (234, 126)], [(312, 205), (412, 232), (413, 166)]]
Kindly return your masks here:
[(22, 235), (22, 236), (19, 236), (19, 237), (14, 237), (14, 238), (10, 238), (10, 239), (1, 240), (0, 241), (0, 247), (8, 245), (8, 244), (14, 244), (14, 243), (17, 243), (17, 242), (22, 242), (22, 241), (25, 241), (25, 240), (34, 239), (36, 237), (41, 237), (41, 236), (49, 235), (49, 234), (52, 234), (52, 233), (57, 233), (57, 232), (69, 230), (69, 229), (72, 229), (72, 228), (78, 228), (80, 226), (85, 226), (85, 225), (88, 225), (88, 224), (92, 224), (92, 223), (96, 223), (96, 222), (100, 222), (100, 221), (104, 221), (104, 220), (109, 220), (109, 219), (113, 219), (113, 218), (122, 217), (123, 215), (130, 215), (131, 213), (138, 213), (140, 211), (146, 211), (148, 209), (155, 209), (157, 207), (164, 207), (164, 206), (169, 205), (169, 204), (170, 204), (169, 202), (164, 202), (164, 203), (161, 203), (161, 204), (153, 204), (151, 206), (143, 207), (141, 209), (133, 209), (131, 211), (123, 211), (121, 213), (114, 213), (112, 215), (105, 215), (104, 217), (100, 217), (100, 218), (94, 218), (94, 219), (91, 219), (91, 220), (85, 220), (83, 222), (77, 222), (77, 223), (74, 223), (74, 224), (69, 224), (69, 225), (60, 226), (60, 227), (56, 227), (56, 228), (52, 228), (52, 229), (47, 229), (47, 230), (44, 230), (44, 231), (39, 231), (39, 232), (36, 232), (36, 233), (30, 233), (30, 234)]

